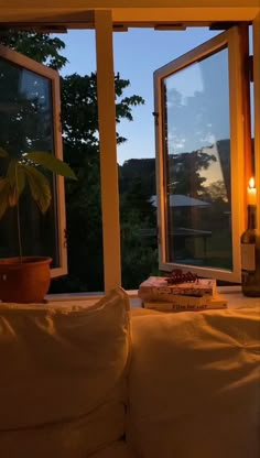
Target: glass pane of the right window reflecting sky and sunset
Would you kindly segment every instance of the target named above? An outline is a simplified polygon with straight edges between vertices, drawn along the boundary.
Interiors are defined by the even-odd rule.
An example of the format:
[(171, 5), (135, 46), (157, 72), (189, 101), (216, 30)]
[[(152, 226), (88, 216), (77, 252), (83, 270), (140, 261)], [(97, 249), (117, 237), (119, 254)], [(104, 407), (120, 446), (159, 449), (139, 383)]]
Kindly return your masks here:
[(227, 48), (162, 84), (166, 262), (231, 270)]

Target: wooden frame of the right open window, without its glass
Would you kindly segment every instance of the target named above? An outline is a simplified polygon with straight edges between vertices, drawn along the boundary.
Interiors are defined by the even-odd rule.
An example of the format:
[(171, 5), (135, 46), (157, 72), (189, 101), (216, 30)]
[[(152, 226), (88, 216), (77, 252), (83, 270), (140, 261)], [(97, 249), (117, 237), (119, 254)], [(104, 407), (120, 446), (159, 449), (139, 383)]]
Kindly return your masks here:
[[(172, 269), (188, 269), (199, 276), (213, 276), (227, 282), (240, 282), (240, 235), (245, 228), (245, 124), (242, 102), (243, 85), (247, 84), (242, 76), (242, 63), (245, 62), (245, 48), (241, 46), (241, 28), (232, 26), (228, 31), (210, 39), (196, 48), (185, 53), (154, 72), (154, 111), (158, 115), (155, 123), (155, 157), (156, 157), (156, 193), (158, 193), (158, 227), (159, 227), (159, 269), (171, 271)], [(170, 263), (166, 260), (166, 175), (163, 148), (163, 78), (178, 72), (188, 65), (220, 51), (224, 46), (228, 50), (229, 73), (229, 120), (230, 120), (230, 178), (231, 178), (231, 233), (232, 233), (232, 270), (194, 266), (189, 264)], [(242, 185), (238, 186), (238, 183)]]

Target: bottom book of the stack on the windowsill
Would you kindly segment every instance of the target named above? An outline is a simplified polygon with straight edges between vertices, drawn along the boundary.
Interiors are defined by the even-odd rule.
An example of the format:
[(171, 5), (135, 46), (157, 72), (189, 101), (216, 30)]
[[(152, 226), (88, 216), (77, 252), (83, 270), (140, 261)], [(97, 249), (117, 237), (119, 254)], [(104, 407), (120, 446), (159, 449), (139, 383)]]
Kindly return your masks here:
[(143, 306), (144, 308), (151, 308), (158, 312), (196, 312), (227, 308), (227, 301), (219, 294), (216, 294), (214, 297), (175, 295), (172, 302), (144, 301)]

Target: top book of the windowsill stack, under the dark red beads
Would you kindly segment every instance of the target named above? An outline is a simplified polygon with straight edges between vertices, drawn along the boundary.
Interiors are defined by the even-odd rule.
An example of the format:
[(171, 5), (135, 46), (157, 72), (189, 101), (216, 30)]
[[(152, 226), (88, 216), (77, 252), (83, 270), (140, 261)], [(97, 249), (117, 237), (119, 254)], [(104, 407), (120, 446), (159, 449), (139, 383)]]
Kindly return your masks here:
[(150, 276), (140, 284), (138, 295), (144, 302), (172, 302), (174, 296), (214, 297), (216, 280), (198, 279), (196, 282), (167, 284), (163, 276)]

